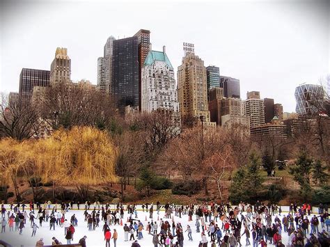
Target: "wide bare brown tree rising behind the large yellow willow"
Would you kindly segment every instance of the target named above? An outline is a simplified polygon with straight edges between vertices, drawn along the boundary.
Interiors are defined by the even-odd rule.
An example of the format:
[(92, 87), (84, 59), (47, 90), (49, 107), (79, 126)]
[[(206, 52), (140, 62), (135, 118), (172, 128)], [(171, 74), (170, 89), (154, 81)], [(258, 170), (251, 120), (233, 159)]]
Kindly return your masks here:
[(45, 88), (36, 101), (52, 129), (95, 126), (107, 129), (116, 115), (110, 96), (91, 86), (61, 81)]

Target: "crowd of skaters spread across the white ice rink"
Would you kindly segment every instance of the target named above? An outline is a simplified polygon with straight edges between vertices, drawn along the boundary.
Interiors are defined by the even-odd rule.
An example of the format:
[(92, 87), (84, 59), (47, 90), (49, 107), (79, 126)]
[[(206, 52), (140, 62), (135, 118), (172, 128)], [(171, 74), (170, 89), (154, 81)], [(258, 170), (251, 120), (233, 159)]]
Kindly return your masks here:
[[(80, 204), (77, 203), (77, 208)], [(163, 208), (164, 209), (163, 209)], [(1, 233), (6, 232), (6, 225), (9, 230), (18, 231), (22, 234), (26, 221), (29, 220), (31, 226), (31, 237), (36, 235), (38, 228), (43, 222), (49, 221), (49, 230), (64, 228), (66, 244), (71, 244), (74, 239), (74, 227), (78, 221), (75, 214), (70, 218), (65, 218), (65, 213), (73, 208), (73, 202), (62, 203), (61, 209), (52, 207), (51, 202), (44, 205), (36, 203), (29, 204), (29, 213), (26, 205), (10, 205), (6, 210), (1, 206)], [(160, 210), (165, 213), (159, 218)], [(21, 210), (22, 209), (22, 210)], [(228, 204), (211, 205), (173, 205), (167, 203), (161, 206), (143, 204), (143, 212), (149, 213), (149, 219), (138, 217), (136, 205), (126, 205), (126, 208), (118, 203), (111, 209), (109, 204), (101, 205), (100, 202), (85, 202), (84, 221), (88, 231), (100, 228), (106, 246), (110, 246), (111, 239), (116, 247), (118, 232), (116, 228), (123, 228), (124, 241), (132, 241), (133, 247), (139, 247), (139, 240), (143, 239), (143, 233), (152, 236), (154, 246), (184, 246), (188, 241), (193, 241), (192, 232), (200, 234), (199, 246), (285, 246), (282, 242), (283, 234), (288, 234), (286, 246), (329, 246), (329, 214), (327, 205), (320, 204), (318, 216), (311, 216), (311, 205), (304, 204), (300, 207), (292, 203), (288, 214), (282, 214), (281, 207), (277, 205), (265, 205), (256, 202), (255, 205), (239, 203), (237, 207)], [(156, 212), (154, 212), (156, 210)], [(125, 219), (127, 211), (127, 219)], [(177, 220), (174, 220), (174, 216)], [(273, 216), (273, 217), (272, 217)], [(308, 218), (309, 216), (309, 218)], [(189, 223), (182, 225), (180, 218), (187, 217)], [(39, 221), (37, 225), (36, 221)], [(115, 227), (111, 231), (111, 227)], [(56, 228), (55, 228), (56, 227)], [(327, 230), (325, 230), (327, 229)], [(245, 235), (246, 243), (241, 243), (241, 237)], [(186, 240), (186, 241), (184, 241)], [(60, 241), (53, 237), (53, 244), (60, 244)], [(86, 246), (86, 236), (79, 240), (82, 246)], [(128, 244), (128, 243), (127, 243)], [(43, 239), (39, 239), (36, 246), (43, 246)], [(191, 246), (191, 244), (189, 244)]]

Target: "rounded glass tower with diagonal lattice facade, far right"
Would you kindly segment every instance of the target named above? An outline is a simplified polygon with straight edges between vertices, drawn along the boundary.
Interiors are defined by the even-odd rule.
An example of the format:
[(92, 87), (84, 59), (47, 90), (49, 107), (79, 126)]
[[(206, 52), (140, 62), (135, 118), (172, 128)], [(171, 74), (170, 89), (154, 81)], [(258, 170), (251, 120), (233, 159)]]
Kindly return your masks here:
[(320, 85), (303, 84), (297, 86), (294, 97), (296, 98), (296, 112), (299, 115), (312, 115), (320, 111), (324, 100), (324, 90)]

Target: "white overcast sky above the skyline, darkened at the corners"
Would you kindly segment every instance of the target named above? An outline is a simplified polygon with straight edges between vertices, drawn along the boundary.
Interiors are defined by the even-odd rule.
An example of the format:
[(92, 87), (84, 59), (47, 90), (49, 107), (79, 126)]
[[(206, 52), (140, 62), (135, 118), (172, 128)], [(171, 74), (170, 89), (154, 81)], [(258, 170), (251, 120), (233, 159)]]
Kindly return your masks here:
[(18, 91), (22, 67), (49, 70), (67, 47), (72, 79), (96, 83), (97, 57), (109, 35), (151, 31), (152, 49), (181, 63), (193, 42), (207, 65), (240, 79), (241, 95), (294, 111), (294, 88), (330, 71), (330, 1), (0, 1), (0, 91)]

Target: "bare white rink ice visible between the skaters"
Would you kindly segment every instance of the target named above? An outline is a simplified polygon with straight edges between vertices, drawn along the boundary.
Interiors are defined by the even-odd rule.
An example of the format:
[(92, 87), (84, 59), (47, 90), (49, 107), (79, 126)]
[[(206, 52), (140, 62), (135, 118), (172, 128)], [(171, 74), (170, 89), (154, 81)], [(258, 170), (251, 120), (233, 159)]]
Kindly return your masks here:
[[(35, 212), (37, 213), (38, 211), (35, 210)], [(88, 213), (91, 213), (92, 210), (89, 210)], [(29, 213), (29, 210), (28, 210)], [(86, 235), (87, 239), (86, 239), (86, 246), (88, 247), (97, 247), (97, 246), (105, 246), (105, 241), (104, 241), (104, 234), (102, 232), (102, 227), (103, 227), (103, 222), (100, 222), (100, 226), (98, 228), (96, 228), (95, 231), (88, 231), (87, 228), (87, 223), (84, 221), (84, 210), (69, 210), (68, 213), (65, 214), (65, 218), (68, 219), (68, 221), (70, 221), (70, 218), (72, 216), (72, 214), (75, 214), (77, 219), (78, 219), (78, 226), (75, 227), (75, 232), (74, 232), (74, 240), (72, 241), (72, 244), (77, 244), (79, 239), (81, 239), (81, 237), (84, 237), (84, 235)], [(283, 217), (283, 213), (281, 214), (282, 216), (279, 216), (279, 218), (282, 220)], [(123, 224), (126, 223), (127, 221), (127, 217), (129, 216), (129, 214), (127, 214), (127, 212), (125, 212), (125, 216), (123, 219)], [(134, 215), (133, 215), (134, 216)], [(154, 219), (153, 221), (157, 221), (157, 212), (155, 211), (154, 214)], [(142, 212), (139, 211), (138, 212), (138, 218), (142, 221), (144, 229), (146, 229), (146, 225), (148, 223), (148, 221), (146, 221), (146, 217), (148, 219), (148, 221), (151, 221), (149, 217), (149, 213), (147, 212)], [(159, 219), (160, 218), (164, 218), (164, 211), (161, 211), (159, 213)], [(274, 221), (275, 216), (273, 216), (273, 221)], [(308, 216), (308, 218), (311, 218), (311, 216)], [(171, 219), (164, 219), (167, 220), (170, 224), (172, 223)], [(174, 216), (174, 221), (175, 223), (181, 223), (183, 230), (187, 230), (187, 225), (190, 225), (193, 232), (192, 232), (192, 237), (194, 239), (194, 241), (189, 241), (188, 240), (188, 236), (187, 236), (187, 232), (184, 232), (184, 246), (194, 246), (197, 247), (199, 242), (201, 241), (201, 233), (197, 233), (196, 232), (196, 227), (195, 227), (195, 221), (196, 221), (196, 216), (193, 216), (193, 221), (188, 221), (188, 216), (187, 215), (183, 215), (182, 218), (179, 218), (177, 216)], [(36, 224), (39, 226), (39, 220), (36, 219), (35, 220)], [(157, 221), (157, 223), (159, 224), (159, 221)], [(218, 221), (219, 226), (221, 228), (221, 222)], [(129, 223), (128, 223), (129, 225)], [(321, 226), (319, 225), (319, 228)], [(117, 246), (131, 246), (132, 245), (132, 241), (129, 242), (125, 242), (124, 241), (124, 230), (123, 230), (123, 226), (121, 225), (111, 225), (110, 226), (111, 229), (111, 234), (113, 234), (113, 229), (116, 229), (118, 231), (118, 240), (117, 240)], [(158, 228), (158, 232), (160, 231), (160, 228)], [(241, 229), (241, 234), (244, 231), (244, 227), (242, 227)], [(36, 241), (38, 241), (41, 237), (44, 239), (44, 243), (45, 245), (52, 245), (52, 237), (56, 237), (56, 239), (58, 239), (59, 241), (62, 242), (62, 244), (66, 244), (66, 239), (65, 239), (65, 234), (64, 234), (64, 228), (61, 228), (59, 225), (55, 225), (55, 230), (51, 230), (49, 231), (49, 222), (43, 222), (42, 223), (42, 227), (40, 227), (37, 232), (36, 232), (36, 236), (35, 237), (31, 237), (31, 233), (32, 233), (32, 228), (30, 227), (30, 221), (27, 220), (26, 221), (26, 225), (25, 228), (23, 229), (23, 233), (22, 235), (19, 235), (19, 232), (15, 232), (15, 225), (14, 225), (14, 231), (13, 232), (9, 232), (9, 227), (8, 225), (6, 226), (6, 233), (0, 233), (0, 239), (3, 241), (7, 241), (9, 244), (12, 244), (13, 246), (17, 246), (17, 247), (28, 247), (28, 246), (36, 246)], [(224, 235), (224, 234), (223, 234)], [(134, 234), (134, 237), (136, 236), (136, 234)], [(207, 237), (208, 240), (210, 241), (210, 237)], [(288, 234), (284, 231), (282, 231), (282, 239), (283, 239), (283, 244), (288, 244)], [(176, 241), (176, 237), (175, 237), (175, 241)], [(250, 238), (251, 244), (252, 244), (252, 240)], [(144, 246), (154, 246), (152, 244), (152, 235), (148, 234), (148, 232), (146, 230), (143, 230), (143, 239), (138, 241), (141, 247)], [(241, 244), (242, 246), (245, 246), (245, 234), (243, 235), (242, 239), (241, 239)], [(269, 245), (269, 244), (268, 244)], [(111, 239), (111, 246), (113, 246), (113, 240)], [(210, 242), (208, 244), (208, 246), (210, 246)]]

